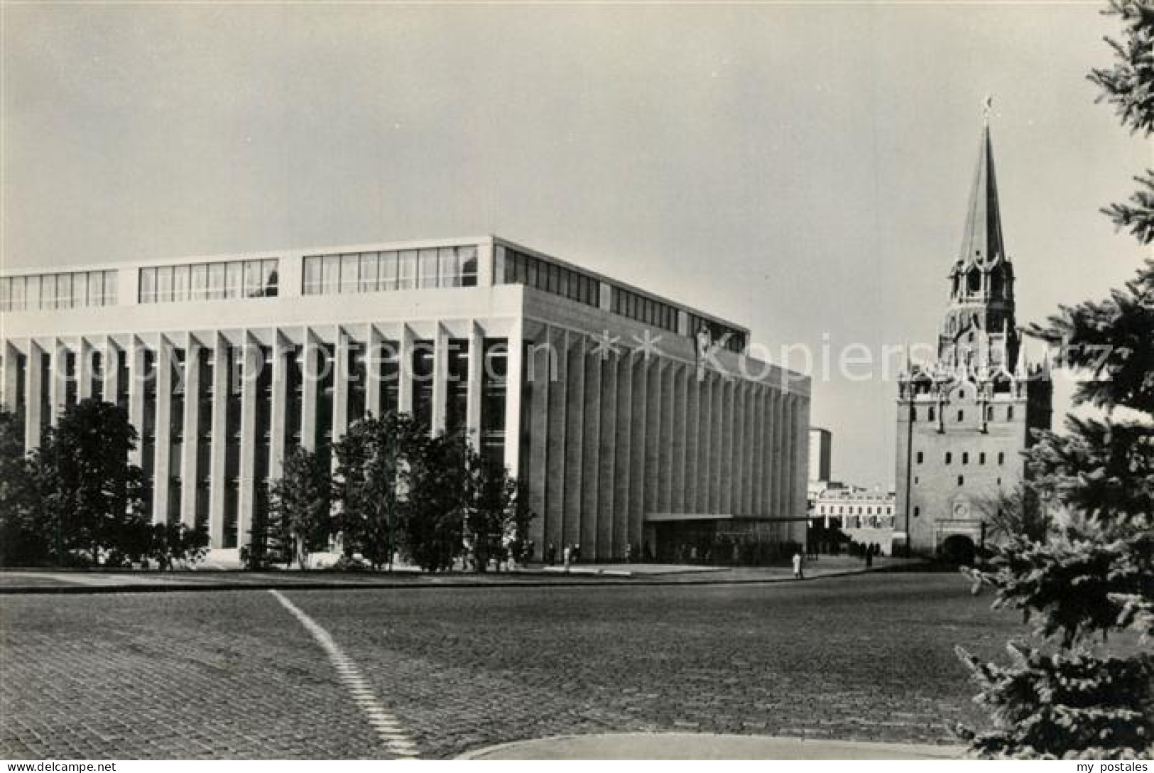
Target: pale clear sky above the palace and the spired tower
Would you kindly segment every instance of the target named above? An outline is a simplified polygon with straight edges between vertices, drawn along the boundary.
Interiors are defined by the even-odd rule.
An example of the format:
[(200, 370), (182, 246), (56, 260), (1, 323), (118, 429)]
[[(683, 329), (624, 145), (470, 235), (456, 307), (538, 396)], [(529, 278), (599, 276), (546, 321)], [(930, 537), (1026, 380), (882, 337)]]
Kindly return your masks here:
[(935, 339), (986, 95), (1019, 322), (1142, 257), (1100, 8), (6, 3), (0, 264), (496, 233), (808, 347), (884, 489), (900, 357), (839, 353)]

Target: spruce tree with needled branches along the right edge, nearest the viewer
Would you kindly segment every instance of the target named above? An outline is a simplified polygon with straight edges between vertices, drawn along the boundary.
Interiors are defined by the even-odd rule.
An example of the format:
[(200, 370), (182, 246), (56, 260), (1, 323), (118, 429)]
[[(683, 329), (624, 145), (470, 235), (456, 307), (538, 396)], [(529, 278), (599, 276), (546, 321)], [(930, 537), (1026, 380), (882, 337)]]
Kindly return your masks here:
[[(1116, 0), (1124, 25), (1115, 62), (1091, 80), (1123, 125), (1154, 130), (1154, 6)], [(1106, 212), (1142, 245), (1154, 241), (1154, 173)], [(960, 651), (982, 686), (995, 728), (962, 729), (991, 757), (1123, 759), (1154, 748), (1154, 262), (1102, 301), (1062, 308), (1033, 332), (1061, 342), (1069, 365), (1088, 375), (1077, 403), (1103, 418), (1066, 420), (1041, 433), (1027, 456), (1029, 486), (1051, 509), (1047, 539), (1017, 535), (992, 569), (974, 572), (997, 590), (995, 606), (1036, 621), (1012, 662)], [(1104, 355), (1103, 355), (1104, 354)], [(1121, 633), (1107, 639), (1109, 633)], [(1112, 644), (1112, 647), (1110, 646)]]

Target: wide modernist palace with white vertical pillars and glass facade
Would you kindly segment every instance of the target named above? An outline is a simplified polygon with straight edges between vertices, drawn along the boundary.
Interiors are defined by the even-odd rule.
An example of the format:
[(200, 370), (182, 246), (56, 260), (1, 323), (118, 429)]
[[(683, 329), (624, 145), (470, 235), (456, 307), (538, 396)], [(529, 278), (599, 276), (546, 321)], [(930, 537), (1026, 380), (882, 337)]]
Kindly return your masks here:
[(495, 237), (6, 275), (0, 312), (25, 448), (80, 399), (120, 404), (151, 517), (213, 548), (247, 541), (290, 449), (387, 411), (514, 471), (537, 557), (803, 540), (807, 377), (748, 358), (733, 323)]

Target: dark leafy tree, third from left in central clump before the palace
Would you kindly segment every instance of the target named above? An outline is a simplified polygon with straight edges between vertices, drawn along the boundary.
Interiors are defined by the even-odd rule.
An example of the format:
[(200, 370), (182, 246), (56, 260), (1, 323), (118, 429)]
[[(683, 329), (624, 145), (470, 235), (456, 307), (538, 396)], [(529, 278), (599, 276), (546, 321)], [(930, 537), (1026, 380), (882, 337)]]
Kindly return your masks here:
[(458, 433), (410, 450), (400, 476), (399, 525), (405, 555), (426, 571), (451, 569), (465, 533), (466, 457)]

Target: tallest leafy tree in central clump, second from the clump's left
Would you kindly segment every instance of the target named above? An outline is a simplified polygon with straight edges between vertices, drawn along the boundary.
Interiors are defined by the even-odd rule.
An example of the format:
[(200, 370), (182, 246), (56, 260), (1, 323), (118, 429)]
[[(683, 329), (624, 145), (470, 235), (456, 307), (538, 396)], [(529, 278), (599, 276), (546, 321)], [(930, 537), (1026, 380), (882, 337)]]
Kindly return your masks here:
[(428, 431), (406, 414), (355, 422), (337, 443), (336, 527), (343, 551), (360, 554), (373, 569), (392, 565), (398, 534), (398, 486), (406, 460), (420, 455)]

